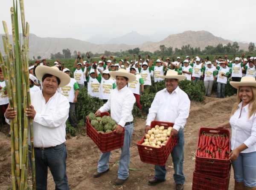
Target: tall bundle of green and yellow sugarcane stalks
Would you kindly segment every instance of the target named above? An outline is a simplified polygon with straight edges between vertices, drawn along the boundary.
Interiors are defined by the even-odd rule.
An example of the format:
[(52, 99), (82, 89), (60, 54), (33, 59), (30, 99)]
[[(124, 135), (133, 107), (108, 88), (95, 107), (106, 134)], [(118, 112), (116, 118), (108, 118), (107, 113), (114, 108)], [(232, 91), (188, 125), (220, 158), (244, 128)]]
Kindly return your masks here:
[[(6, 81), (9, 106), (17, 115), (11, 119), (11, 155), (12, 155), (12, 190), (27, 190), (28, 168), (31, 168), (32, 188), (35, 189), (35, 154), (33, 121), (25, 114), (30, 106), (29, 93), (29, 24), (25, 23), (24, 3), (19, 1), (22, 24), (22, 45), (19, 32), (18, 2), (13, 0), (11, 7), (12, 39), (10, 43), (6, 22), (3, 21), (5, 35), (3, 38), (4, 57), (0, 52), (0, 64)], [(30, 150), (29, 150), (30, 144)], [(31, 162), (29, 164), (29, 154)], [(30, 167), (29, 167), (30, 165)]]

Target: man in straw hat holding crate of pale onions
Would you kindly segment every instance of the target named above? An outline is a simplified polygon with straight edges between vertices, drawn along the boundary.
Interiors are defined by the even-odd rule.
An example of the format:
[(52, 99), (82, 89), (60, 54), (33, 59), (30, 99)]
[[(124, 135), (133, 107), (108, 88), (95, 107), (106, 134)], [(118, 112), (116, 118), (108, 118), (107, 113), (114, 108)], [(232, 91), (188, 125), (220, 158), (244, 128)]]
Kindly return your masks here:
[[(166, 88), (155, 95), (154, 101), (148, 110), (145, 132), (150, 130), (151, 121), (166, 121), (174, 123), (172, 136), (177, 136), (177, 145), (172, 150), (174, 166), (174, 181), (176, 190), (183, 190), (185, 176), (183, 174), (184, 161), (184, 126), (189, 116), (190, 100), (188, 95), (179, 88), (178, 81), (184, 80), (185, 75), (178, 75), (177, 71), (169, 70), (166, 75), (160, 75), (165, 79)], [(166, 180), (165, 166), (155, 165), (155, 176), (148, 181), (149, 185), (156, 185)]]

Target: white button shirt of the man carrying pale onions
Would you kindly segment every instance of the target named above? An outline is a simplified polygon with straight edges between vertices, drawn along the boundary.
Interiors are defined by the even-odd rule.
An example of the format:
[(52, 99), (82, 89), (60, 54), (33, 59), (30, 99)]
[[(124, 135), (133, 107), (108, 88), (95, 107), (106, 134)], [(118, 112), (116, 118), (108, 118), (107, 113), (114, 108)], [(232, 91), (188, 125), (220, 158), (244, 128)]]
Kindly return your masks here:
[(156, 93), (154, 101), (148, 110), (146, 125), (151, 121), (166, 121), (174, 123), (177, 131), (184, 128), (186, 118), (189, 117), (190, 100), (188, 95), (177, 86), (170, 94), (167, 89)]

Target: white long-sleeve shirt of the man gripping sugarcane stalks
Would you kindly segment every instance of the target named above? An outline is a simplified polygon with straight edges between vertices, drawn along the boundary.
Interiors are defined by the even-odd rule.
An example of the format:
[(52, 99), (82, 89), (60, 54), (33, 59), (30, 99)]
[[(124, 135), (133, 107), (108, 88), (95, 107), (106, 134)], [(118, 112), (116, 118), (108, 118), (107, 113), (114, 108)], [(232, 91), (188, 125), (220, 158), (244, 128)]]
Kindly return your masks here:
[[(47, 148), (64, 143), (66, 141), (66, 121), (70, 107), (67, 98), (56, 91), (45, 103), (41, 90), (31, 92), (30, 96), (31, 104), (36, 112), (33, 121), (34, 146)], [(6, 121), (10, 124), (10, 120), (6, 119)]]

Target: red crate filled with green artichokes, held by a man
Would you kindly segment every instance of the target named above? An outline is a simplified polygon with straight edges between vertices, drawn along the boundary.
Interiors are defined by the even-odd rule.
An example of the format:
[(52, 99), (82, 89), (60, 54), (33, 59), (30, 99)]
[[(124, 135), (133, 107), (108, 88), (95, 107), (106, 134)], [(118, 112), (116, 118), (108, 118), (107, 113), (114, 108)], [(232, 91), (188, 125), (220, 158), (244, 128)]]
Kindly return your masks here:
[(119, 149), (124, 144), (125, 129), (122, 134), (116, 133), (116, 121), (108, 112), (102, 112), (100, 117), (90, 113), (86, 117), (87, 135), (99, 147), (102, 153)]

